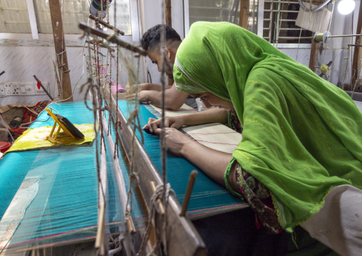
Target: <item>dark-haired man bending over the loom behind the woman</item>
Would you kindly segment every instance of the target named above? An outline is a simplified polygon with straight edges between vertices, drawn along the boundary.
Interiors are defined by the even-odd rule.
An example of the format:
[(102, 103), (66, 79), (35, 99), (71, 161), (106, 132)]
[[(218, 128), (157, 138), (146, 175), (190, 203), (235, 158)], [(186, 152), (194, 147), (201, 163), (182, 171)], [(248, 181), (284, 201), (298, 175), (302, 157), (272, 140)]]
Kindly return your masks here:
[[(165, 29), (166, 42), (165, 45), (161, 44), (161, 33), (162, 26)], [(175, 62), (175, 56), (178, 46), (180, 46), (181, 38), (177, 34), (175, 29), (172, 29), (167, 25), (156, 25), (143, 34), (141, 39), (141, 45), (147, 51), (148, 58), (157, 65), (158, 71), (161, 71), (161, 49), (163, 48), (166, 51), (167, 61), (170, 65), (173, 66)], [(173, 79), (172, 68), (166, 68), (165, 73), (168, 78)], [(135, 92), (138, 91), (138, 100), (141, 102), (149, 102), (152, 105), (157, 107), (162, 106), (162, 86), (155, 83), (141, 83), (139, 85), (131, 86), (127, 91), (126, 99), (134, 100)], [(187, 103), (189, 106), (196, 107), (195, 99), (190, 98), (188, 93), (183, 93), (182, 91), (177, 91), (175, 83), (172, 86), (166, 86), (165, 91), (166, 96), (166, 108), (167, 109), (177, 109), (180, 108), (183, 103)], [(186, 101), (186, 102), (185, 102)]]

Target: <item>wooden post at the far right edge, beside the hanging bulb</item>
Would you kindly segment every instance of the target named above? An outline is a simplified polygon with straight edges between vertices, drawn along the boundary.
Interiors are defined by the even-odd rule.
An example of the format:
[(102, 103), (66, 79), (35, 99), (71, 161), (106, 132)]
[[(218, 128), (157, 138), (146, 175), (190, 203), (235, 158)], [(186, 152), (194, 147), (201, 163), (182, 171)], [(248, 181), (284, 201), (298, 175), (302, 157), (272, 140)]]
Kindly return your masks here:
[[(358, 22), (357, 22), (357, 33), (362, 33), (362, 2), (359, 4), (358, 11)], [(361, 36), (356, 37), (356, 44), (362, 44)], [(351, 69), (351, 88), (353, 90), (353, 86), (356, 83), (356, 80), (359, 78), (360, 74), (358, 71), (361, 70), (361, 58), (362, 58), (362, 50), (361, 47), (354, 47), (353, 51), (353, 61), (352, 61), (352, 69)], [(356, 86), (355, 91), (362, 92), (362, 86)]]

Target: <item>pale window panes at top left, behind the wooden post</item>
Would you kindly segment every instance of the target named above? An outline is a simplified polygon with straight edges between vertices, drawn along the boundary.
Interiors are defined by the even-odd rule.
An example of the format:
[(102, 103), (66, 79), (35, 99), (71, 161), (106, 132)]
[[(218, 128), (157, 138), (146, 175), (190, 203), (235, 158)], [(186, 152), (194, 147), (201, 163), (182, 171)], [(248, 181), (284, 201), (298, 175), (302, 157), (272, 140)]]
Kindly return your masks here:
[[(31, 25), (36, 24), (38, 34), (53, 34), (49, 1), (61, 2), (64, 34), (83, 34), (78, 24), (79, 21), (88, 21), (89, 0), (0, 0), (0, 33), (31, 34)], [(117, 4), (117, 28), (126, 36), (132, 34), (130, 5), (135, 3), (135, 0), (113, 0), (110, 4), (109, 22), (114, 24), (114, 5)], [(30, 11), (35, 17), (33, 20), (29, 19), (31, 8), (28, 10), (27, 4), (33, 4), (33, 11)], [(133, 9), (137, 21), (138, 8)]]

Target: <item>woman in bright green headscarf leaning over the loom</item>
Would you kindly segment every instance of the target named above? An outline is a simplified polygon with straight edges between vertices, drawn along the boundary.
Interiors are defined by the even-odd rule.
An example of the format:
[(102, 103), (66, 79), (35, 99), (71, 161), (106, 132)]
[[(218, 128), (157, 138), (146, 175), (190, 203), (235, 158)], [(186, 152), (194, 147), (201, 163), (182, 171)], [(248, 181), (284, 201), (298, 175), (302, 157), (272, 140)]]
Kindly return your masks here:
[[(344, 91), (229, 23), (192, 24), (173, 74), (177, 90), (235, 108), (243, 136), (228, 154), (165, 128), (168, 150), (247, 200), (262, 229), (301, 225), (362, 255), (362, 114)], [(148, 126), (160, 134), (158, 124)]]

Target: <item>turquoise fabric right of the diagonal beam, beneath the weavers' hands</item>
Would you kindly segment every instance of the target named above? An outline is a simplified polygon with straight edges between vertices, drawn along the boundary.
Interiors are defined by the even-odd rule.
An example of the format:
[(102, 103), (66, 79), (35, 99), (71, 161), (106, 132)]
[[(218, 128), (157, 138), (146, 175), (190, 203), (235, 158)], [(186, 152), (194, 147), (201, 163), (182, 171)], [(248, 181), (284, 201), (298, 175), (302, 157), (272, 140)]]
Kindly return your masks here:
[[(120, 111), (128, 118), (128, 101), (118, 101)], [(140, 125), (145, 126), (148, 118), (155, 118), (155, 116), (148, 111), (145, 106), (140, 106)], [(136, 132), (138, 139), (140, 133)], [(151, 135), (143, 132), (145, 138), (144, 148), (158, 170), (162, 170), (161, 163), (161, 150), (160, 138), (156, 135)], [(233, 195), (215, 183), (205, 173), (199, 170), (195, 165), (192, 165), (185, 158), (179, 158), (171, 153), (167, 153), (167, 183), (171, 184), (171, 188), (175, 190), (177, 200), (182, 204), (189, 175), (192, 170), (197, 170), (198, 175), (195, 181), (194, 189), (190, 198), (190, 203), (187, 208), (187, 216), (195, 219), (205, 214), (222, 213), (234, 208), (247, 207), (247, 203)]]

